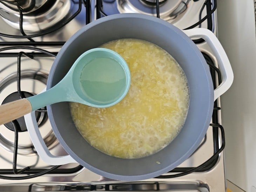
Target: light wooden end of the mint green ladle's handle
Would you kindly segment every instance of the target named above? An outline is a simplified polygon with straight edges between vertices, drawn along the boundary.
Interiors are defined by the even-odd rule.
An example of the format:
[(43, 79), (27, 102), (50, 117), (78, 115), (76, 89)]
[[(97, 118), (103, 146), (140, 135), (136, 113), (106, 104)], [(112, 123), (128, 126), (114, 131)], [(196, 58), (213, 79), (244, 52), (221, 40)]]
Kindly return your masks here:
[(26, 98), (0, 105), (0, 125), (18, 119), (31, 111), (32, 106)]

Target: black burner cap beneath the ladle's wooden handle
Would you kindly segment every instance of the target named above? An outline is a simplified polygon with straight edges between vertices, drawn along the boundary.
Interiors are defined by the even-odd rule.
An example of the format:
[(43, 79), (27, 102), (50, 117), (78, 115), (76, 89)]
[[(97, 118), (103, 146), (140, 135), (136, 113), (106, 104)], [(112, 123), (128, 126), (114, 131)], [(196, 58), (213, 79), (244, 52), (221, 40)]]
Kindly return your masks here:
[[(30, 97), (30, 96), (33, 96), (34, 94), (31, 94), (27, 91), (22, 91), (23, 94), (25, 95), (25, 97)], [(12, 101), (15, 101), (15, 100), (19, 100), (20, 99), (20, 96), (18, 94), (18, 92), (13, 92), (12, 94), (8, 95), (5, 100), (2, 102), (2, 104), (5, 104), (5, 103), (9, 103), (9, 102), (12, 102)], [(43, 110), (46, 110), (46, 107), (42, 108)], [(36, 121), (38, 123), (38, 126), (40, 127), (41, 125), (43, 125), (47, 118), (48, 118), (48, 115), (46, 112), (35, 112), (35, 116), (36, 116)], [(18, 123), (20, 124), (20, 130), (18, 130), (19, 132), (23, 132), (23, 131), (27, 131), (27, 127), (26, 127), (26, 123), (25, 123), (25, 120), (24, 120), (24, 117), (20, 117), (17, 119)], [(4, 124), (9, 130), (12, 130), (14, 131), (14, 128), (13, 128), (13, 125), (11, 122), (9, 123), (6, 123)]]

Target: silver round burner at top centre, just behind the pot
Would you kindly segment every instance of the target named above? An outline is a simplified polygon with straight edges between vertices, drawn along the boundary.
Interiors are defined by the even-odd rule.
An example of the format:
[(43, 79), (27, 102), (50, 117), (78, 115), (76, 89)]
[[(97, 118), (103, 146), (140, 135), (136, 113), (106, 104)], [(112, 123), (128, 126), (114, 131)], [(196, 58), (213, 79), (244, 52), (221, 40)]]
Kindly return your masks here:
[[(156, 16), (155, 0), (116, 0), (120, 13), (142, 13)], [(159, 0), (160, 18), (166, 21), (174, 19), (187, 9), (189, 0)]]

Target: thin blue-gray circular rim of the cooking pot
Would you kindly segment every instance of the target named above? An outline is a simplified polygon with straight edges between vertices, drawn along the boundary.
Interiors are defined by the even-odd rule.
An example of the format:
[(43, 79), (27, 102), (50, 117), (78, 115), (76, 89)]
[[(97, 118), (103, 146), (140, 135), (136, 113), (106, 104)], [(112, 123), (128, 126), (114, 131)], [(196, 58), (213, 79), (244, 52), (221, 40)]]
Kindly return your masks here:
[(205, 119), (204, 122), (204, 126), (200, 132), (200, 135), (198, 135), (196, 142), (194, 142), (194, 144), (190, 147), (190, 149), (184, 154), (182, 155), (179, 159), (177, 159), (174, 163), (170, 164), (169, 166), (163, 167), (162, 169), (155, 171), (155, 172), (151, 172), (148, 174), (141, 174), (141, 175), (135, 175), (135, 176), (130, 176), (130, 175), (117, 175), (117, 174), (113, 174), (113, 173), (109, 173), (106, 171), (102, 171), (96, 167), (93, 167), (92, 165), (88, 164), (87, 162), (85, 162), (84, 160), (82, 160), (76, 153), (74, 153), (69, 146), (66, 144), (65, 140), (61, 137), (60, 132), (57, 129), (57, 126), (55, 124), (55, 121), (52, 117), (53, 111), (52, 111), (52, 107), (49, 105), (47, 106), (47, 110), (49, 111), (49, 119), (50, 119), (50, 123), (53, 126), (53, 130), (54, 133), (56, 135), (56, 137), (58, 138), (60, 144), (63, 146), (63, 148), (67, 151), (67, 153), (72, 156), (72, 158), (74, 158), (78, 163), (82, 164), (83, 166), (85, 166), (87, 169), (101, 175), (107, 178), (112, 178), (112, 179), (117, 179), (117, 180), (141, 180), (141, 179), (148, 179), (148, 178), (152, 178), (152, 177), (156, 177), (159, 176), (160, 174), (166, 173), (168, 171), (170, 171), (171, 169), (173, 169), (174, 167), (178, 166), (180, 163), (182, 163), (184, 160), (186, 160), (197, 148), (197, 146), (200, 144), (201, 140), (203, 139), (208, 126), (210, 124), (210, 120), (211, 120), (211, 115), (213, 112), (213, 103), (214, 103), (214, 94), (213, 94), (213, 87), (212, 87), (212, 82), (211, 82), (211, 76), (209, 71), (206, 69), (206, 61), (204, 60), (203, 55), (201, 54), (200, 50), (197, 48), (197, 46), (194, 44), (194, 42), (185, 34), (182, 32), (182, 30), (178, 29), (177, 27), (171, 25), (170, 23), (161, 20), (159, 18), (156, 18), (154, 16), (149, 16), (149, 15), (144, 15), (144, 14), (139, 14), (139, 13), (122, 13), (122, 14), (115, 14), (115, 15), (110, 15), (110, 16), (106, 16), (104, 18), (100, 18), (97, 19), (94, 22), (89, 23), (88, 25), (86, 25), (85, 27), (81, 28), (78, 32), (76, 32), (72, 37), (70, 37), (70, 39), (63, 45), (63, 47), (61, 48), (60, 52), (58, 53), (58, 55), (56, 56), (56, 59), (54, 61), (53, 67), (50, 70), (49, 73), (49, 78), (47, 81), (47, 89), (52, 87), (52, 78), (53, 78), (53, 74), (54, 71), (57, 67), (57, 63), (59, 61), (59, 59), (62, 57), (63, 54), (65, 54), (65, 50), (66, 48), (76, 39), (76, 37), (78, 37), (79, 35), (81, 35), (82, 33), (84, 33), (86, 30), (99, 25), (102, 22), (106, 22), (109, 20), (113, 20), (113, 19), (120, 19), (120, 18), (139, 18), (139, 19), (145, 19), (145, 20), (150, 20), (150, 21), (154, 21), (157, 23), (160, 23), (161, 25), (164, 25), (168, 28), (170, 28), (171, 30), (173, 30), (175, 33), (177, 33), (178, 35), (180, 35), (195, 51), (195, 53), (197, 54), (198, 57), (201, 58), (202, 62), (205, 63), (204, 66), (204, 70), (205, 73), (207, 74), (207, 78), (208, 78), (208, 83), (209, 83), (209, 92), (210, 92), (210, 96), (209, 96), (209, 105), (207, 106), (208, 113), (207, 113), (207, 118)]

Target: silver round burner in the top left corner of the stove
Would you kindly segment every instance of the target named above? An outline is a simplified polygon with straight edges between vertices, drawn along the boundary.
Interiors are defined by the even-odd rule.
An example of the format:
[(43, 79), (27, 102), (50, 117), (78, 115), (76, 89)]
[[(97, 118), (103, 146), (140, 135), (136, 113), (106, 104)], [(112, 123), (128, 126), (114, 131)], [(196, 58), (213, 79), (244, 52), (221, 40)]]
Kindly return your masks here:
[[(20, 8), (23, 13), (23, 30), (38, 32), (56, 25), (67, 18), (72, 5), (70, 0), (49, 0), (32, 12), (25, 12)], [(1, 5), (0, 16), (13, 28), (20, 29), (20, 13), (17, 7), (16, 10), (13, 8), (10, 10), (10, 8)]]

